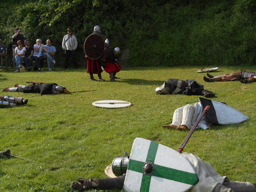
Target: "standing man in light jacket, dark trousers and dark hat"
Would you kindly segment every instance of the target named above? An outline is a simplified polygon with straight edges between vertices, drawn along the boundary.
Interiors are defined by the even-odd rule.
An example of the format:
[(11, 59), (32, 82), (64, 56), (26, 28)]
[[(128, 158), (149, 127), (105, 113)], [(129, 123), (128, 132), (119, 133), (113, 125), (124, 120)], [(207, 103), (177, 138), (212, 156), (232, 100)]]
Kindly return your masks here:
[(73, 30), (71, 28), (67, 29), (68, 34), (63, 37), (62, 48), (65, 50), (65, 64), (64, 69), (68, 68), (68, 59), (69, 56), (72, 56), (72, 60), (74, 63), (74, 67), (78, 69), (78, 63), (76, 60), (76, 48), (77, 48), (77, 40), (76, 36), (72, 35)]

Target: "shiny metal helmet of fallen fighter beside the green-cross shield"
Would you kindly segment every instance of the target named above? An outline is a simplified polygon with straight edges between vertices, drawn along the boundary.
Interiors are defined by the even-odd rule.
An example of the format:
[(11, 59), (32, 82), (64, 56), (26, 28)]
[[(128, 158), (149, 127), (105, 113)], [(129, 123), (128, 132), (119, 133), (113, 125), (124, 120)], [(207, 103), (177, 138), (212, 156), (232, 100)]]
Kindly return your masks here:
[(112, 162), (112, 172), (115, 176), (122, 176), (126, 173), (130, 155), (117, 156)]

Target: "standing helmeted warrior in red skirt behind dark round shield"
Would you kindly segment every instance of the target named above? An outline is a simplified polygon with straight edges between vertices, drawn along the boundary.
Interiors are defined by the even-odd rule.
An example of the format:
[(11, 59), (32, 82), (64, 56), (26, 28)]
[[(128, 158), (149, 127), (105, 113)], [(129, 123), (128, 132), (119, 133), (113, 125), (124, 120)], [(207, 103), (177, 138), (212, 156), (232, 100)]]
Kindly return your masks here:
[[(92, 34), (101, 35), (100, 26), (95, 26), (94, 32)], [(98, 81), (105, 81), (101, 77), (101, 73), (103, 72), (103, 70), (100, 65), (100, 58), (90, 59), (87, 55), (85, 57), (87, 58), (87, 73), (90, 74), (90, 80), (96, 81), (96, 79), (94, 79), (93, 77), (93, 74), (98, 74)]]

